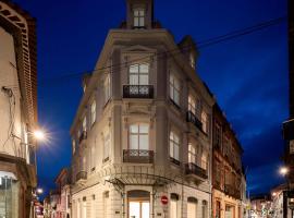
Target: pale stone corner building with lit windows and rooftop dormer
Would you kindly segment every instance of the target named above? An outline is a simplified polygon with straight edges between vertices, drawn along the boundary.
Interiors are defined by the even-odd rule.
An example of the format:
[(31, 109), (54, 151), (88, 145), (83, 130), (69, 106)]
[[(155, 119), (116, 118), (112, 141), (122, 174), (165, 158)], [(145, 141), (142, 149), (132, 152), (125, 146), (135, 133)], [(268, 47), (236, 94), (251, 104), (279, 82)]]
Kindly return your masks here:
[(193, 39), (176, 44), (152, 3), (126, 1), (126, 22), (83, 80), (71, 128), (74, 218), (211, 215), (215, 100), (195, 72)]

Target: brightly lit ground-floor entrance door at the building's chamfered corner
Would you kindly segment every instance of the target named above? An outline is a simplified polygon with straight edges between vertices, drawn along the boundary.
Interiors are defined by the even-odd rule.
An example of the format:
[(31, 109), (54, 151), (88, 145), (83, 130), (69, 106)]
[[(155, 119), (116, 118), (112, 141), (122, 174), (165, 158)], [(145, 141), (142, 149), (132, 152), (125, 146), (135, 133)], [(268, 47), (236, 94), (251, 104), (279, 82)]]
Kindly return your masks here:
[(127, 193), (128, 218), (150, 217), (150, 194), (146, 191), (130, 191)]

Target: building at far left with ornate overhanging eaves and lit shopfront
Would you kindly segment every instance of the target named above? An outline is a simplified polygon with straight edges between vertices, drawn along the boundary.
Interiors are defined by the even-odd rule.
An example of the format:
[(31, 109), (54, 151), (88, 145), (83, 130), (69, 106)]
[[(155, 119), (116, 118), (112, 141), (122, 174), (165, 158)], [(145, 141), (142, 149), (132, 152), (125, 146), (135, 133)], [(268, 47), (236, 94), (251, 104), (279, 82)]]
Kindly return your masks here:
[(37, 184), (35, 20), (0, 1), (0, 217), (28, 218)]

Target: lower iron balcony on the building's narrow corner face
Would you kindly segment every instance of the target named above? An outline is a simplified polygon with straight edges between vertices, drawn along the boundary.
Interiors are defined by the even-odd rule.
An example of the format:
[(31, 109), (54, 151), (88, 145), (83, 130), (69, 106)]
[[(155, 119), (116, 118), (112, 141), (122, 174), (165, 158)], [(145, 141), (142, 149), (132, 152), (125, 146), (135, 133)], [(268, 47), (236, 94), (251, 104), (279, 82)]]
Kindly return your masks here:
[(125, 149), (123, 150), (124, 162), (152, 164), (154, 150)]

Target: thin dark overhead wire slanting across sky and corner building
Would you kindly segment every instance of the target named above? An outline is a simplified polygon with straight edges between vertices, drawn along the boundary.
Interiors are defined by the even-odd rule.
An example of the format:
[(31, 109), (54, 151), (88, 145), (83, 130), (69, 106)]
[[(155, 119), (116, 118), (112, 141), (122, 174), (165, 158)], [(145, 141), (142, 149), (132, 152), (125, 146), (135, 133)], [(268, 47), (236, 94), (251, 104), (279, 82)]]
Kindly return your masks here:
[[(273, 26), (273, 25), (278, 25), (279, 23), (282, 23), (283, 21), (286, 21), (286, 17), (287, 16), (281, 16), (281, 17), (278, 17), (278, 19), (272, 19), (272, 20), (261, 22), (261, 23), (258, 23), (258, 24), (249, 26), (249, 27), (245, 27), (245, 28), (242, 28), (242, 29), (236, 29), (236, 31), (230, 32), (230, 33), (224, 34), (224, 35), (220, 35), (220, 36), (217, 36), (217, 37), (211, 37), (211, 38), (208, 38), (208, 39), (205, 39), (205, 40), (200, 40), (197, 44), (197, 48), (203, 49), (203, 48), (216, 45), (216, 44), (220, 44), (220, 43), (223, 43), (223, 41), (226, 41), (226, 40), (231, 40), (231, 39), (234, 39), (234, 38), (237, 38), (237, 37), (242, 37), (242, 36), (245, 36), (245, 35), (248, 35), (248, 34), (265, 29), (265, 28)], [(156, 57), (158, 59), (168, 58), (169, 56), (174, 57), (176, 55), (182, 53), (181, 49), (186, 49), (186, 48), (189, 48), (189, 46), (188, 47), (183, 47), (183, 48), (176, 47), (175, 49), (167, 50), (167, 51), (163, 51), (163, 52), (156, 52), (154, 55), (148, 55), (146, 57), (132, 60), (132, 62), (136, 62), (136, 61), (148, 62), (150, 59), (154, 60)], [(119, 69), (121, 69), (121, 68), (127, 66), (130, 63), (131, 63), (131, 61), (130, 62), (125, 61), (125, 62), (122, 62), (122, 63), (110, 64), (110, 65), (102, 66), (102, 68), (99, 68), (99, 69), (90, 70), (90, 71), (84, 71), (84, 72), (77, 72), (77, 73), (69, 73), (69, 74), (63, 74), (63, 75), (51, 77), (51, 78), (50, 77), (49, 78), (44, 78), (42, 81), (39, 82), (39, 84), (45, 85), (47, 82), (50, 82), (50, 81), (62, 81), (62, 80), (72, 78), (72, 77), (79, 77), (79, 76), (82, 76), (84, 74), (93, 74), (94, 72), (98, 72), (98, 71), (106, 71), (106, 70), (112, 71), (112, 69), (114, 69), (114, 68), (119, 66)], [(119, 70), (119, 69), (115, 69), (115, 70)], [(111, 72), (103, 72), (103, 73), (109, 74)]]

